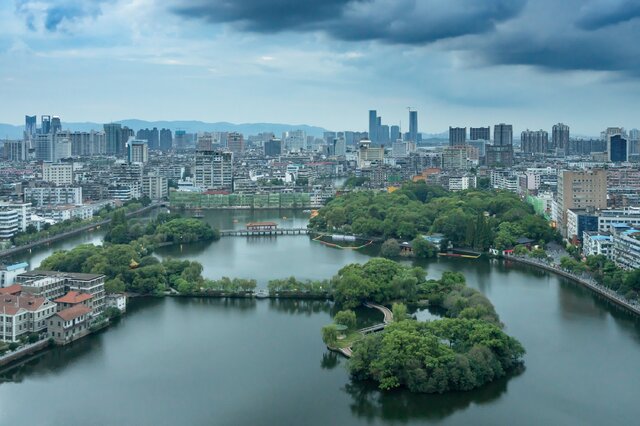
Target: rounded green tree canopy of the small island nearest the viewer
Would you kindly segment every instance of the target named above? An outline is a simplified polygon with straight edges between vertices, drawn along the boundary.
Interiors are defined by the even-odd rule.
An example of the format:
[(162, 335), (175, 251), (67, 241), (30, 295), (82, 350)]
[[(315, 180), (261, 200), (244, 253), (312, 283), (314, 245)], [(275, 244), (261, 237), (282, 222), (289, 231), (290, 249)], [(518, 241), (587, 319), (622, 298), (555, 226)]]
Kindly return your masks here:
[(470, 319), (405, 320), (353, 346), (351, 375), (381, 389), (443, 393), (482, 386), (522, 362), (525, 351), (498, 326)]

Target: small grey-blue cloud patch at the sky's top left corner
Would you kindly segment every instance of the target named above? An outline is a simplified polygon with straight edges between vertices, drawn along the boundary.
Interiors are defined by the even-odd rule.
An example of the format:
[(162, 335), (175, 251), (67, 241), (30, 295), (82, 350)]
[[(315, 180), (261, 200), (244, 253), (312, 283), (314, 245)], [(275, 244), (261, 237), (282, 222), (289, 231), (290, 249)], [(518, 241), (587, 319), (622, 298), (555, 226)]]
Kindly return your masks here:
[(111, 0), (16, 0), (16, 11), (29, 29), (35, 31), (38, 23), (45, 30), (58, 31), (63, 22), (100, 15), (102, 3)]

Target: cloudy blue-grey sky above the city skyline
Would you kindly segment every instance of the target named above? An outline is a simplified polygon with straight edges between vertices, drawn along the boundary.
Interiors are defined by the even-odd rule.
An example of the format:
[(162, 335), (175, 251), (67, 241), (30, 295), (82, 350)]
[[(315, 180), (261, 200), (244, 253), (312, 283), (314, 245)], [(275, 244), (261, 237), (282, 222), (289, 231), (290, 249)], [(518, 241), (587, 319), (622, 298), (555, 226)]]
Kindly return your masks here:
[(640, 127), (639, 0), (2, 0), (0, 122)]

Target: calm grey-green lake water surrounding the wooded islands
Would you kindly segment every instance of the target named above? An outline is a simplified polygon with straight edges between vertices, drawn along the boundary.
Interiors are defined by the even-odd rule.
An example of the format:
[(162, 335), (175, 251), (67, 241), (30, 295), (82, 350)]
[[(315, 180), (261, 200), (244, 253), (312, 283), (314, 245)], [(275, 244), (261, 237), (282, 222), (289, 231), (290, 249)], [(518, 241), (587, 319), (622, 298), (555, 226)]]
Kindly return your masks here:
[[(209, 212), (220, 228), (301, 212)], [(34, 250), (100, 241), (100, 231)], [(329, 278), (368, 253), (306, 236), (227, 238), (165, 247), (210, 278)], [(117, 325), (0, 374), (0, 424), (635, 424), (640, 416), (640, 322), (547, 272), (489, 260), (439, 259), (428, 274), (462, 272), (496, 306), (527, 349), (525, 371), (479, 390), (447, 395), (380, 393), (351, 383), (320, 328), (324, 302), (216, 299), (134, 300)], [(367, 313), (371, 321), (375, 313)]]

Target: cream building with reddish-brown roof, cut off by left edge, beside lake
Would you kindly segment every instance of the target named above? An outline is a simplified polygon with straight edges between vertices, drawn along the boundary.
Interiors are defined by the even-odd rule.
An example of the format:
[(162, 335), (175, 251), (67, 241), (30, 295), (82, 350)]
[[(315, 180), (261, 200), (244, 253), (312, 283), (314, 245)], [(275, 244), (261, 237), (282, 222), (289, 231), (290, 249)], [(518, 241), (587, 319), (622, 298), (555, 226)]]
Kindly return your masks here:
[(31, 295), (0, 295), (0, 340), (15, 342), (28, 333), (47, 328), (47, 319), (56, 312), (55, 303)]

